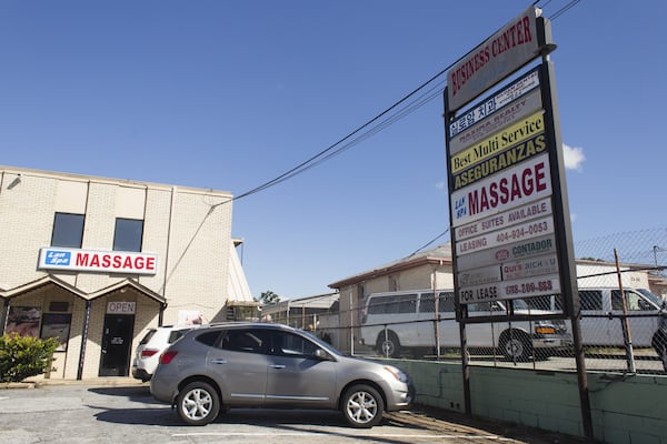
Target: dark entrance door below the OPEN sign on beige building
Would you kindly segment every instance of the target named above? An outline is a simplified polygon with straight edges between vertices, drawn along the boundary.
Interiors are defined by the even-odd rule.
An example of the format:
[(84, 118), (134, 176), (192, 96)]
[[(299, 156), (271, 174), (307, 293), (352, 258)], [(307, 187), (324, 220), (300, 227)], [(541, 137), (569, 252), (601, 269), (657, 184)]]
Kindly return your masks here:
[(107, 314), (104, 316), (100, 376), (129, 375), (133, 333), (133, 314)]

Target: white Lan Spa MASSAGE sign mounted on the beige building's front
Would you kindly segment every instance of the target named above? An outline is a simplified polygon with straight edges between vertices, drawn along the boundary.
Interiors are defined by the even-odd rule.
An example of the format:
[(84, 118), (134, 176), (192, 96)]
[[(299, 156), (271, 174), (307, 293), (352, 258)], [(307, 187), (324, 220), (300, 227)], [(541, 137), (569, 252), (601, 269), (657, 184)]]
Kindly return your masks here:
[(41, 270), (97, 271), (106, 273), (156, 274), (158, 255), (125, 251), (94, 251), (43, 248), (39, 253)]

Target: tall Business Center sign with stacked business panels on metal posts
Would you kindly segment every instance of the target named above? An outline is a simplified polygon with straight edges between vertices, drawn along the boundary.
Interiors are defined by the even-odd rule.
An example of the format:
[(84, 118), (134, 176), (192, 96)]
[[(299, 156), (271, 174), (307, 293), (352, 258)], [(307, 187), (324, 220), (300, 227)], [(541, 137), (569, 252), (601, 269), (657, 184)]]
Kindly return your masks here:
[[(584, 433), (593, 438), (579, 329), (550, 22), (530, 7), (447, 73), (445, 127), (466, 413), (470, 303), (561, 294), (571, 322)], [(540, 59), (531, 69), (526, 67)], [(521, 72), (525, 71), (525, 72)], [(509, 80), (509, 81), (507, 81)], [(502, 88), (497, 88), (506, 81)], [(496, 88), (495, 91), (491, 91)], [(474, 100), (475, 104), (469, 105)], [(468, 108), (466, 108), (468, 107)], [(510, 313), (494, 316), (512, 321)]]

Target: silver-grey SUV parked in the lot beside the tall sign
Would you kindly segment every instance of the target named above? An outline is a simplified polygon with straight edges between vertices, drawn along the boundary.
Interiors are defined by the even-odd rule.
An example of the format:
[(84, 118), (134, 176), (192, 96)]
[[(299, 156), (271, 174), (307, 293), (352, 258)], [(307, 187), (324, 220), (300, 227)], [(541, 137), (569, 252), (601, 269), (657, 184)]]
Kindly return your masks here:
[(340, 410), (354, 427), (377, 425), (385, 411), (408, 408), (409, 376), (344, 356), (310, 333), (281, 324), (203, 325), (160, 356), (150, 392), (191, 425), (230, 407)]

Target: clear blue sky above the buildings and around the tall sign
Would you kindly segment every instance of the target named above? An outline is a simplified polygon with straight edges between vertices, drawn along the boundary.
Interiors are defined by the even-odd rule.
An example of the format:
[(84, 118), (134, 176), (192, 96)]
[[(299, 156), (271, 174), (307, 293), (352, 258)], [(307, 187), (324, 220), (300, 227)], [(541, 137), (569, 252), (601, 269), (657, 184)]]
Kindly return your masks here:
[[(550, 18), (568, 3), (538, 6)], [(0, 163), (239, 195), (339, 141), (529, 4), (2, 0)], [(575, 241), (665, 226), (665, 17), (667, 2), (581, 0), (552, 21)], [(255, 296), (328, 292), (447, 230), (435, 92), (340, 155), (235, 202)]]

